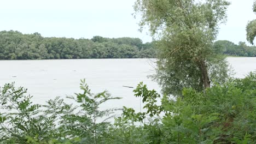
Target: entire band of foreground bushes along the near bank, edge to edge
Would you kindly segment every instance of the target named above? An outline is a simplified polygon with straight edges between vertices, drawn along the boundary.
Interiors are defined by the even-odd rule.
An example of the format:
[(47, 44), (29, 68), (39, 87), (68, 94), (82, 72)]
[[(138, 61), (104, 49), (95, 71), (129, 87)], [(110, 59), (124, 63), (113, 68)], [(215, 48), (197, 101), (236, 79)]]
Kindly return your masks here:
[(92, 94), (85, 81), (83, 92), (71, 98), (77, 105), (59, 97), (33, 104), (27, 89), (11, 83), (0, 91), (0, 143), (255, 143), (255, 86), (256, 73), (250, 73), (245, 79), (214, 83), (205, 92), (184, 88), (182, 97), (171, 99), (139, 83), (134, 92), (146, 112), (124, 107), (111, 124), (104, 119), (117, 109), (98, 108), (119, 98)]

